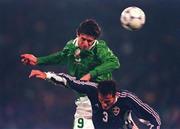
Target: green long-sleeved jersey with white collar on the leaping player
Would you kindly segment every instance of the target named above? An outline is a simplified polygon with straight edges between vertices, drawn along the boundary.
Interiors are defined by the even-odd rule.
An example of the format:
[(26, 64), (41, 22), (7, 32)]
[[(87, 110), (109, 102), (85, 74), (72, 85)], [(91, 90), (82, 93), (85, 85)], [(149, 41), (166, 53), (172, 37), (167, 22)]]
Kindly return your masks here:
[(77, 39), (70, 40), (63, 50), (38, 57), (38, 65), (66, 65), (68, 74), (80, 79), (90, 73), (91, 81), (99, 82), (112, 79), (112, 71), (119, 68), (118, 58), (103, 40), (95, 40), (89, 50), (81, 50)]

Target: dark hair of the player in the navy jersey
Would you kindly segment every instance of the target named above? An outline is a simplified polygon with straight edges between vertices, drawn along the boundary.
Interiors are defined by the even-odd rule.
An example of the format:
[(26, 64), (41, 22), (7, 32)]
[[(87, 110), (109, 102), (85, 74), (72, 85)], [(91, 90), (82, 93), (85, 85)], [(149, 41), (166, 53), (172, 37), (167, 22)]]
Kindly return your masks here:
[(103, 96), (116, 93), (116, 83), (113, 80), (101, 81), (98, 83), (98, 92)]

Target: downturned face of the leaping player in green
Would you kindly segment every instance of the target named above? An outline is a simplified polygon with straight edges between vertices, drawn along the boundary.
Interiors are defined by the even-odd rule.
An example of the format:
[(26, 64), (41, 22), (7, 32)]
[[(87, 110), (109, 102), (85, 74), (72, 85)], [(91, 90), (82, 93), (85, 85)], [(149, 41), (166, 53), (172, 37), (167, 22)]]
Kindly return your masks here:
[(78, 38), (78, 46), (80, 49), (88, 50), (94, 43), (95, 38), (86, 34), (79, 34)]

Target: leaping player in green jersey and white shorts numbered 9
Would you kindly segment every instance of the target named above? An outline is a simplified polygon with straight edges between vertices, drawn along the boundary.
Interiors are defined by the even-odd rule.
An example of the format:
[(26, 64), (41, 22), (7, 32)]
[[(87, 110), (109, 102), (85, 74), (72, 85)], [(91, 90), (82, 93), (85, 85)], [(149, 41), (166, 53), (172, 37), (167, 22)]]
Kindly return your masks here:
[[(68, 74), (83, 81), (110, 80), (120, 63), (107, 43), (98, 39), (100, 34), (97, 22), (86, 19), (78, 26), (76, 38), (68, 41), (62, 50), (43, 57), (22, 54), (21, 61), (29, 65), (66, 65)], [(78, 96), (74, 129), (94, 129), (90, 101), (85, 94), (78, 93)]]

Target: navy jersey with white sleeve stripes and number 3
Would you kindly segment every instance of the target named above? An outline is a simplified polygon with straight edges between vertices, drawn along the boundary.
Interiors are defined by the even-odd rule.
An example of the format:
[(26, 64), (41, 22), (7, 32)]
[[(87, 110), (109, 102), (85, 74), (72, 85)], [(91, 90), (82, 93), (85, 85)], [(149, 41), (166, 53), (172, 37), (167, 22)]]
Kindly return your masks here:
[[(58, 79), (58, 77), (61, 79)], [(145, 120), (151, 129), (160, 129), (159, 115), (136, 95), (129, 91), (116, 92), (116, 101), (108, 110), (104, 110), (98, 100), (97, 83), (76, 80), (67, 74), (56, 74), (50, 78), (53, 82), (63, 83), (73, 90), (85, 93), (92, 105), (95, 129), (130, 129), (128, 113), (133, 112), (139, 119)]]

